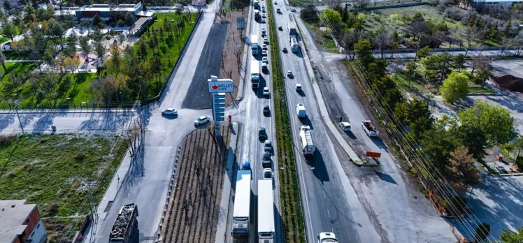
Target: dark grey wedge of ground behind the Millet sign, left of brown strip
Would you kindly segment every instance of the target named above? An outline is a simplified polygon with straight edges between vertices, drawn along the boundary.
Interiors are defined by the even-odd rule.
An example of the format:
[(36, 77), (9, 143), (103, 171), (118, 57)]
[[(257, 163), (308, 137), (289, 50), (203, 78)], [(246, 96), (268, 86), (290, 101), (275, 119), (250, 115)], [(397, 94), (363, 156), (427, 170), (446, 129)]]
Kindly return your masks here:
[(207, 80), (210, 78), (210, 75), (218, 75), (220, 72), (222, 60), (217, 57), (222, 56), (228, 26), (229, 24), (226, 22), (223, 24), (217, 22), (210, 29), (209, 37), (205, 46), (203, 46), (198, 66), (196, 66), (196, 72), (187, 91), (189, 95), (185, 96), (182, 108), (211, 108), (212, 97), (208, 92)]

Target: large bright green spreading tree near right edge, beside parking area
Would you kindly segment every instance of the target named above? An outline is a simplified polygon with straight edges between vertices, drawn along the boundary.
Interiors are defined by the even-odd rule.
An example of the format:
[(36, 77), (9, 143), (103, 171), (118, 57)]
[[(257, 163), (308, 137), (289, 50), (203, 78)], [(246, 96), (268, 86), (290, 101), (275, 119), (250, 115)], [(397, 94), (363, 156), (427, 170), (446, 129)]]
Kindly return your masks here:
[(517, 136), (510, 112), (487, 101), (476, 101), (471, 108), (461, 110), (458, 117), (461, 124), (478, 128), (488, 147), (506, 144)]

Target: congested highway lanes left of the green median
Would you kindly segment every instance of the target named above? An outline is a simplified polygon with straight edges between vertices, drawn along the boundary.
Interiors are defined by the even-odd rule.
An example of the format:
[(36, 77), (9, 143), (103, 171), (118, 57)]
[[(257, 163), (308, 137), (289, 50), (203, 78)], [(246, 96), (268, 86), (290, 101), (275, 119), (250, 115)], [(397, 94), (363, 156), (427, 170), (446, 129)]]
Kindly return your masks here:
[[(261, 6), (266, 4), (266, 1), (260, 1), (260, 8)], [(251, 7), (252, 8), (252, 7)], [(262, 24), (261, 22), (256, 22), (254, 20), (254, 13), (252, 13), (252, 17), (249, 19), (249, 25), (250, 30), (248, 33), (245, 34), (245, 36), (250, 37), (251, 34), (257, 34), (259, 36), (259, 41), (263, 40), (263, 37), (261, 36), (261, 28), (265, 28), (267, 30), (268, 34), (268, 26), (267, 24)], [(268, 38), (268, 37), (267, 37)], [(263, 43), (259, 43), (261, 46)], [(270, 50), (270, 43), (268, 45), (268, 50)], [(280, 193), (278, 191), (278, 170), (275, 170), (275, 168), (278, 168), (278, 161), (277, 156), (275, 156), (278, 151), (276, 151), (276, 141), (275, 141), (275, 121), (273, 117), (273, 86), (272, 86), (272, 78), (271, 78), (271, 70), (272, 67), (270, 66), (271, 62), (271, 53), (268, 52), (268, 59), (269, 59), (269, 72), (268, 73), (261, 73), (261, 80), (259, 88), (252, 89), (251, 82), (250, 82), (250, 65), (251, 61), (257, 59), (261, 63), (261, 50), (259, 55), (254, 56), (252, 55), (250, 51), (250, 45), (248, 47), (248, 52), (245, 53), (248, 54), (248, 61), (245, 66), (247, 67), (247, 71), (245, 73), (245, 76), (247, 77), (244, 83), (244, 94), (243, 99), (241, 103), (238, 103), (238, 106), (234, 107), (232, 106), (230, 109), (232, 119), (234, 121), (239, 121), (240, 126), (240, 136), (238, 137), (238, 149), (236, 152), (236, 161), (238, 162), (238, 168), (240, 167), (241, 163), (243, 161), (249, 161), (251, 164), (251, 170), (252, 170), (252, 184), (251, 184), (251, 190), (252, 190), (252, 196), (251, 196), (251, 224), (250, 224), (250, 238), (249, 242), (257, 242), (257, 181), (259, 179), (263, 179), (263, 168), (261, 167), (261, 158), (263, 157), (264, 153), (264, 143), (263, 141), (258, 139), (258, 130), (261, 126), (266, 128), (266, 133), (268, 135), (268, 139), (273, 142), (273, 154), (271, 156), (272, 159), (272, 168), (273, 168), (273, 196), (274, 196), (274, 205), (275, 205), (275, 242), (280, 242), (281, 238), (281, 214), (280, 214)], [(260, 64), (261, 65), (261, 64)], [(260, 66), (261, 71), (261, 66)], [(271, 90), (271, 96), (264, 96), (263, 95), (263, 89), (264, 87), (268, 87)], [(263, 115), (262, 110), (265, 105), (270, 106), (271, 113), (270, 115)], [(233, 184), (235, 182), (232, 182)], [(231, 194), (234, 194), (231, 193)], [(232, 214), (233, 214), (233, 206), (234, 205), (234, 196), (231, 197), (230, 202), (231, 207), (229, 207), (229, 217), (228, 222), (232, 222)], [(231, 237), (231, 223), (227, 225), (227, 242), (233, 242), (233, 239)]]

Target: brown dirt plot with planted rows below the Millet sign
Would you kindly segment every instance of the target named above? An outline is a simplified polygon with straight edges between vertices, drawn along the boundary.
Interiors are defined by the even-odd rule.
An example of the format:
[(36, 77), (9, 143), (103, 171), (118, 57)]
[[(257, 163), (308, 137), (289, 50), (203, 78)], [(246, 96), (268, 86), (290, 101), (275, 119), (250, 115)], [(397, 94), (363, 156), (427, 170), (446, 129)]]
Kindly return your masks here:
[[(185, 138), (162, 228), (163, 242), (214, 242), (222, 197), (229, 127), (215, 140), (210, 129)], [(213, 131), (214, 132), (214, 131)]]

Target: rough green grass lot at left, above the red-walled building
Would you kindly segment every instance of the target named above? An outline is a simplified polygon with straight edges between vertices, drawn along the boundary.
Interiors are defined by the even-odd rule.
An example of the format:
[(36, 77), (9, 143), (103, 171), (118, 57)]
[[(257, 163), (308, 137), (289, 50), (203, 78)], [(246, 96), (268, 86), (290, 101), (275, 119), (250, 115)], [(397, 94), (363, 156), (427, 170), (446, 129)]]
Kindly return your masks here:
[(127, 149), (125, 144), (120, 138), (99, 135), (19, 135), (8, 142), (2, 137), (0, 200), (27, 199), (38, 205), (43, 217), (72, 216), (108, 159), (94, 192), (94, 201), (101, 199)]

